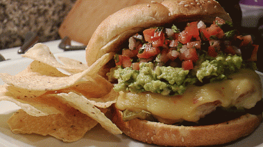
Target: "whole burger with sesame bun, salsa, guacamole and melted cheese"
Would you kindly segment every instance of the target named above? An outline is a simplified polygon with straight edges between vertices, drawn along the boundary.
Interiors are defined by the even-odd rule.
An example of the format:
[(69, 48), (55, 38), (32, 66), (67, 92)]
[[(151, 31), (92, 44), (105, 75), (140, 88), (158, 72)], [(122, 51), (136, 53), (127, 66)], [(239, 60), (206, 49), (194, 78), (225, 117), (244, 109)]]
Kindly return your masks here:
[(262, 121), (258, 46), (212, 0), (152, 1), (102, 21), (88, 65), (119, 92), (112, 121), (129, 137), (160, 146), (210, 146), (249, 135)]

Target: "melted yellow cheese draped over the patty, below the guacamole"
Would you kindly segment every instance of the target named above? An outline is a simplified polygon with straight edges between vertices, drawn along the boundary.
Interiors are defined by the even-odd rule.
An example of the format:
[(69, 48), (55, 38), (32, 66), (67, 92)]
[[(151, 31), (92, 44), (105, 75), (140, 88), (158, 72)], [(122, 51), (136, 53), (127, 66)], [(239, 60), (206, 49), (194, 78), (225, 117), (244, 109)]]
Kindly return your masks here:
[(241, 70), (220, 82), (190, 86), (183, 95), (173, 97), (151, 92), (119, 92), (115, 106), (119, 110), (146, 110), (163, 119), (198, 121), (216, 106), (249, 109), (261, 99), (260, 77), (253, 70)]

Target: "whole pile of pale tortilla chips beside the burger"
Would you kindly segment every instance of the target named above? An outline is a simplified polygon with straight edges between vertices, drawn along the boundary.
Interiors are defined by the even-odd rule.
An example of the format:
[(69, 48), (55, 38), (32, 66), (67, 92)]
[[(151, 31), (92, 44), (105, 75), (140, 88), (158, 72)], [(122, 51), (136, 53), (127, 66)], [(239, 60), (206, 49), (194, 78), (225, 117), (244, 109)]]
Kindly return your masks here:
[(113, 57), (105, 54), (92, 66), (74, 59), (53, 56), (47, 46), (37, 43), (22, 57), (33, 59), (17, 75), (0, 73), (0, 101), (12, 101), (21, 109), (8, 119), (13, 133), (51, 135), (62, 141), (77, 141), (98, 123), (120, 134), (105, 116), (116, 102), (112, 84), (97, 75)]

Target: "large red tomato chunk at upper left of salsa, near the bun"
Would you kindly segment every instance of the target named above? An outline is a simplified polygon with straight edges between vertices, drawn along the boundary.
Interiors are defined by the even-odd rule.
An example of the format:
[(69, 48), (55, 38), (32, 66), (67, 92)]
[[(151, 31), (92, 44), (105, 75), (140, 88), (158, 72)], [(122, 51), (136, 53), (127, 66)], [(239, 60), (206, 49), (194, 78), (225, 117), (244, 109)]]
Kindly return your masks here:
[(143, 31), (145, 41), (153, 43), (153, 47), (162, 46), (164, 44), (164, 31), (158, 28), (149, 28)]

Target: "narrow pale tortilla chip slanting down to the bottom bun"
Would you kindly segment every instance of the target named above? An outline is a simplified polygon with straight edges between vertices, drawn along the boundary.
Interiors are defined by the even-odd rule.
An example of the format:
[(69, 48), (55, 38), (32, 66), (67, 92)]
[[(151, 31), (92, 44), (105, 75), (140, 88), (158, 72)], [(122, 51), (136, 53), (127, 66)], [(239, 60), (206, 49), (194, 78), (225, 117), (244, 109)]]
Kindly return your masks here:
[(60, 93), (58, 94), (61, 97), (61, 100), (65, 103), (69, 104), (80, 112), (83, 112), (85, 115), (92, 117), (92, 119), (96, 120), (101, 124), (103, 128), (108, 130), (112, 134), (121, 134), (121, 130), (110, 121), (101, 110), (96, 108), (94, 105), (90, 103), (85, 97), (77, 95), (74, 92)]

